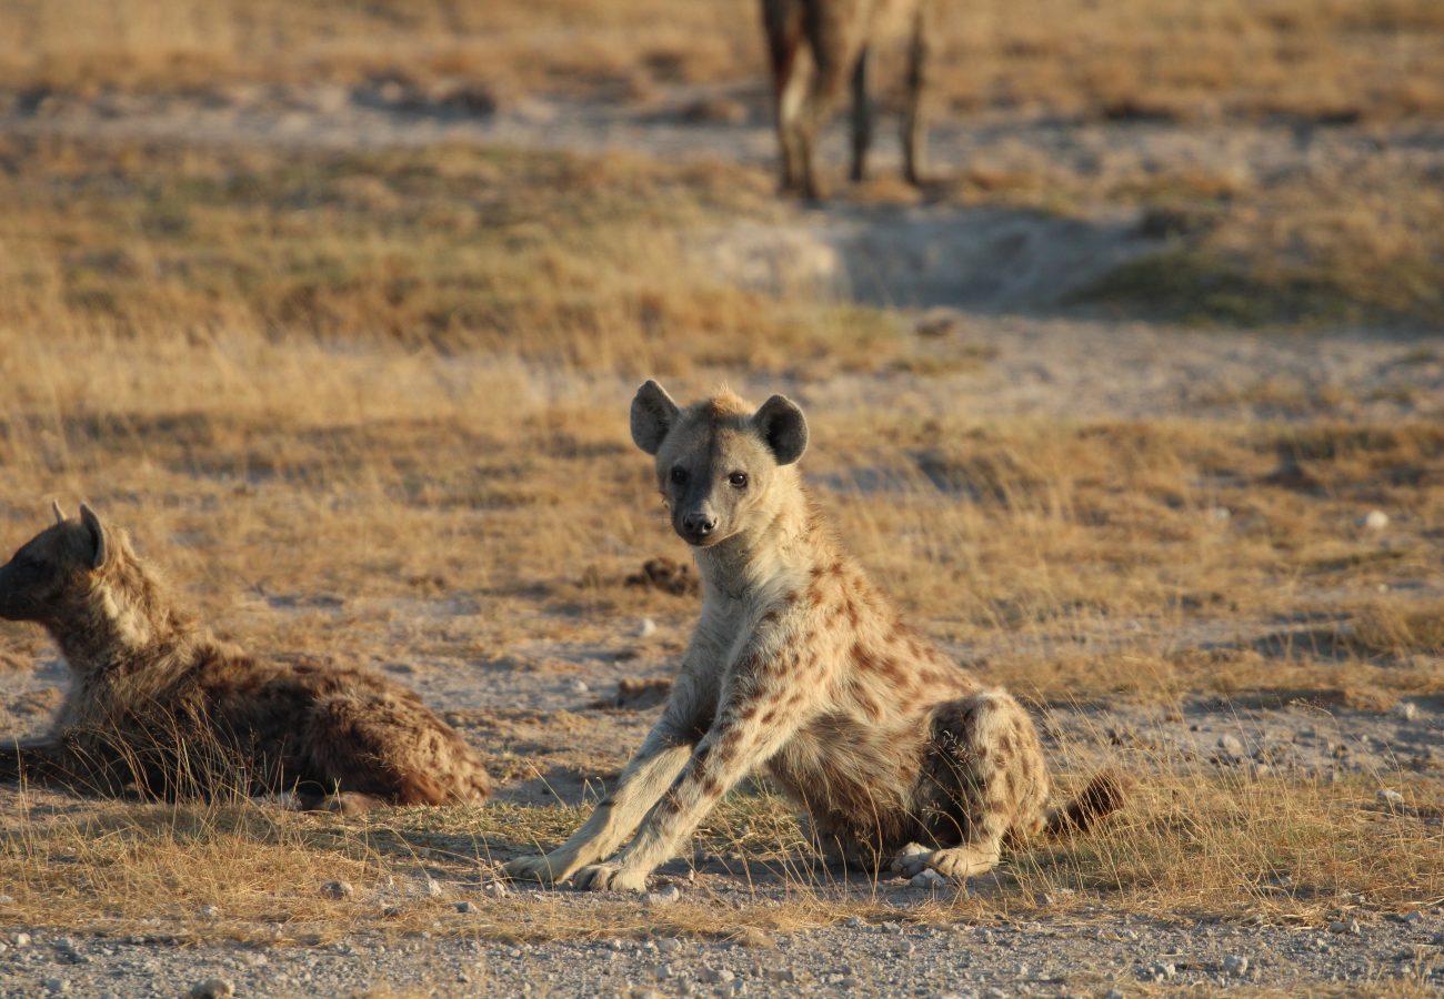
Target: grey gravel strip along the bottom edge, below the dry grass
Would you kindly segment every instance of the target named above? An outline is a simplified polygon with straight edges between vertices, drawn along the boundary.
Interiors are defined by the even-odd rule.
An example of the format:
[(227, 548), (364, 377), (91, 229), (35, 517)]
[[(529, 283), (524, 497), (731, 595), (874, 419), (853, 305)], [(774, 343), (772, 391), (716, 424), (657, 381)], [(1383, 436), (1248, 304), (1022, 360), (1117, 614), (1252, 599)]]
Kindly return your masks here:
[[(630, 996), (651, 989), (664, 996), (861, 990), (940, 998), (989, 990), (1006, 996), (1126, 995), (1141, 983), (1304, 993), (1337, 982), (1444, 989), (1444, 908), (1401, 914), (1415, 917), (1409, 921), (1340, 918), (1340, 934), (1330, 934), (1327, 925), (1243, 927), (1119, 917), (1105, 909), (934, 927), (908, 921), (913, 892), (885, 886), (878, 892), (879, 902), (894, 905), (898, 918), (777, 934), (775, 946), (767, 948), (673, 935), (518, 944), (430, 933), (388, 935), (375, 928), (334, 944), (188, 946), (90, 938), (74, 931), (62, 937), (36, 928), (35, 946), (0, 954), (0, 996), (110, 992), (146, 999), (178, 992), (219, 998), (370, 990)], [(731, 907), (744, 898), (748, 889), (739, 886), (719, 889), (715, 901)], [(537, 904), (576, 908), (580, 915), (602, 901), (556, 891)], [(625, 931), (645, 933), (644, 905), (635, 911), (640, 918), (627, 920)], [(62, 940), (71, 947), (62, 947)], [(87, 951), (92, 960), (69, 963), (65, 950)]]

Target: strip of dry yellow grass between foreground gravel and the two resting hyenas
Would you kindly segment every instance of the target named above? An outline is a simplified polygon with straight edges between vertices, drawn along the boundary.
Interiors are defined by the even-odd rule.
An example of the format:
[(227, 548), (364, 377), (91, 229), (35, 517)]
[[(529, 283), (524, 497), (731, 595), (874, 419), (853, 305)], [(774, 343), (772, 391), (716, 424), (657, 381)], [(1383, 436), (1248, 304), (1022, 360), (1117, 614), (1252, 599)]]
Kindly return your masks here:
[[(1340, 912), (1408, 911), (1444, 897), (1437, 785), (1385, 775), (1406, 807), (1380, 810), (1373, 782), (1251, 780), (1184, 772), (1181, 761), (1135, 761), (1144, 793), (1102, 833), (1032, 843), (972, 895), (940, 894), (915, 922), (989, 922), (1048, 912), (1141, 912), (1318, 922)], [(0, 840), (9, 924), (71, 933), (137, 930), (179, 943), (318, 944), (365, 931), (426, 930), (492, 940), (738, 937), (898, 918), (865, 876), (817, 866), (788, 804), (736, 794), (697, 833), (708, 863), (742, 885), (706, 886), (666, 909), (615, 898), (485, 898), (494, 863), (559, 842), (583, 814), (569, 807), (397, 810), (365, 820), (254, 806), (98, 806), (23, 810)], [(673, 876), (680, 868), (673, 866)], [(719, 869), (716, 866), (713, 871)], [(355, 892), (332, 898), (331, 881)], [(429, 894), (429, 881), (445, 886)], [(703, 881), (703, 885), (710, 884)], [(479, 914), (453, 902), (477, 898)]]

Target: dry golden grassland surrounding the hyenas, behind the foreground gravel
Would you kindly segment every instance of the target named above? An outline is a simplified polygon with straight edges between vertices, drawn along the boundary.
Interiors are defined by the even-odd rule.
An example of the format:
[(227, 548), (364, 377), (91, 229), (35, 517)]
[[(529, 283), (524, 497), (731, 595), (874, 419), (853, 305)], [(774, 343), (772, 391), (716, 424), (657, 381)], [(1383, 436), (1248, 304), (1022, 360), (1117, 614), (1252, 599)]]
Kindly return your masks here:
[[(927, 634), (1047, 715), (1064, 787), (1100, 764), (1142, 777), (1105, 832), (1034, 845), (986, 889), (905, 920), (1317, 925), (1440, 905), (1444, 344), (1419, 333), (1437, 332), (1444, 287), (1444, 14), (1424, 0), (1015, 6), (950, 16), (940, 115), (1285, 120), (1417, 141), (1279, 178), (1095, 176), (1035, 152), (975, 166), (923, 204), (1122, 204), (1170, 243), (1066, 318), (959, 315), (939, 332), (816, 289), (732, 283), (692, 253), (739, 221), (801, 221), (755, 163), (0, 133), (0, 541), (39, 530), (49, 498), (85, 498), (217, 631), (414, 683), (508, 785), (482, 808), (354, 820), (7, 790), (0, 924), (287, 946), (898, 918), (887, 886), (817, 872), (764, 784), (699, 833), (699, 866), (742, 858), (744, 876), (709, 875), (674, 905), (452, 904), (563, 837), (615, 778), (656, 706), (612, 690), (664, 677), (696, 612), (693, 595), (627, 582), (684, 557), (627, 436), (648, 375), (687, 397), (729, 381), (799, 398), (806, 469), (851, 547)], [(12, 123), (55, 97), (316, 78), (396, 77), (436, 100), (465, 85), (478, 108), (644, 102), (752, 79), (761, 58), (752, 4), (731, 1), (0, 10)], [(913, 204), (887, 180), (848, 198)], [(1213, 325), (1148, 325), (1160, 316)], [(1084, 391), (1136, 381), (1141, 401), (1076, 410), (1009, 394), (1040, 342), (1058, 368), (1106, 361), (1115, 318), (1154, 368), (1177, 336), (1229, 377), (1149, 396), (1158, 371), (1123, 365)], [(1227, 358), (1255, 341), (1302, 359)], [(1310, 367), (1359, 351), (1369, 362), (1341, 374)], [(0, 628), (14, 730), (56, 703), (52, 660), (38, 631)], [(1356, 742), (1367, 765), (1333, 769), (1220, 762), (1167, 735), (1233, 712), (1370, 732), (1408, 717), (1417, 739)], [(1385, 788), (1402, 797), (1380, 804)], [(429, 878), (448, 894), (413, 891)], [(335, 879), (358, 891), (323, 897)], [(709, 888), (722, 882), (741, 888)], [(1437, 987), (1428, 974), (1398, 987)]]

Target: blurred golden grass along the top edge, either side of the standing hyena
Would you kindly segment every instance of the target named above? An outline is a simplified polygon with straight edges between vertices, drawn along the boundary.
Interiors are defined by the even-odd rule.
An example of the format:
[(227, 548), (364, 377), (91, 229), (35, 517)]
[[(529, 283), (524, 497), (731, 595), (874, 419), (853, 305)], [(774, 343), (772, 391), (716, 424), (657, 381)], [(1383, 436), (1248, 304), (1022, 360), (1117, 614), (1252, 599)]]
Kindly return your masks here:
[[(1444, 110), (1444, 16), (1430, 0), (1001, 0), (944, 4), (937, 88), (952, 110), (1109, 118), (1297, 115), (1324, 123)], [(0, 79), (98, 91), (231, 82), (462, 81), (647, 98), (676, 82), (758, 78), (752, 0), (297, 7), (202, 0), (10, 0)]]

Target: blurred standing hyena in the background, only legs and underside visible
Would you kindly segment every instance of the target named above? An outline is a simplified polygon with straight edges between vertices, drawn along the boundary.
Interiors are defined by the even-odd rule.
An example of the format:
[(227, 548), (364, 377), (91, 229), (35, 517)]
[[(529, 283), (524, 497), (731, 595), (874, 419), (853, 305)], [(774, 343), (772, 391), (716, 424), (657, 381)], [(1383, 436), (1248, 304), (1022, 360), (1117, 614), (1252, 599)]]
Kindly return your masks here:
[(902, 176), (920, 183), (923, 98), (937, 0), (762, 0), (762, 27), (773, 69), (773, 111), (783, 157), (783, 189), (817, 198), (813, 152), (843, 88), (852, 81), (852, 179), (866, 172), (872, 143), (868, 45), (908, 22), (907, 104), (902, 111)]

